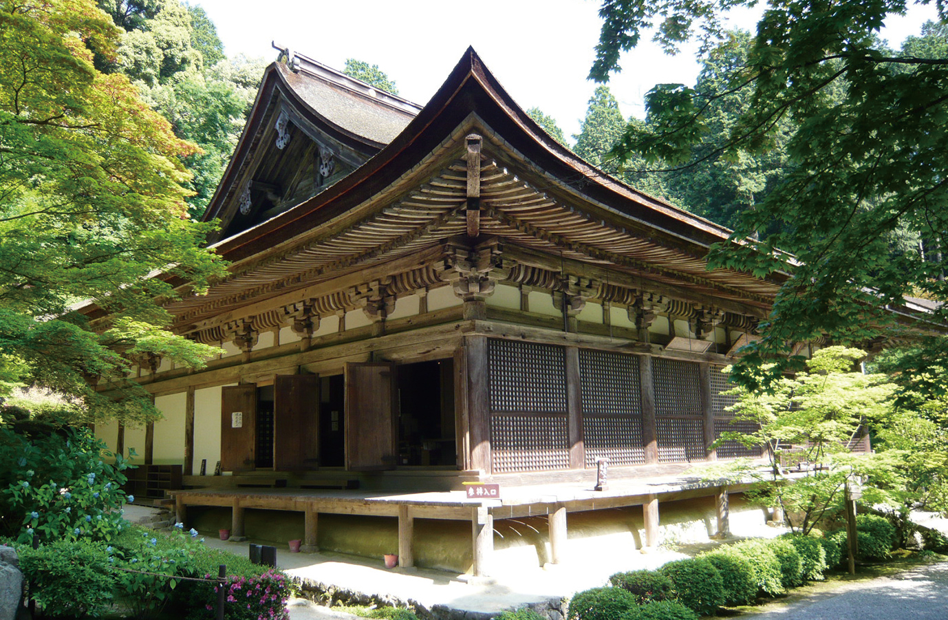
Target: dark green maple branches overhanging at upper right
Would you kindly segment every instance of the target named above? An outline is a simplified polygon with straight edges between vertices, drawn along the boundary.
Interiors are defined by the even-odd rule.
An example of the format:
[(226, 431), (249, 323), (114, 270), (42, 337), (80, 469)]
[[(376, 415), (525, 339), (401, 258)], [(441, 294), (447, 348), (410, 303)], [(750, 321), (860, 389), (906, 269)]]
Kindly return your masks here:
[[(617, 70), (619, 53), (650, 26), (669, 49), (696, 35), (710, 49), (722, 36), (721, 12), (751, 4), (607, 0), (591, 76)], [(943, 25), (929, 25), (900, 51), (884, 46), (876, 33), (905, 9), (904, 0), (773, 0), (745, 60), (722, 67), (707, 90), (656, 85), (647, 126), (630, 126), (613, 154), (687, 166), (785, 150), (791, 165), (780, 182), (730, 222), (732, 243), (712, 252), (712, 266), (792, 275), (738, 380), (751, 379), (742, 369), (782, 358), (764, 377), (775, 381), (793, 342), (898, 335), (886, 307), (906, 295), (948, 300), (948, 46)], [(715, 110), (735, 98), (744, 105), (720, 127)], [(765, 230), (772, 233), (757, 234)], [(906, 235), (927, 251), (893, 246)], [(939, 308), (935, 319), (946, 313)]]

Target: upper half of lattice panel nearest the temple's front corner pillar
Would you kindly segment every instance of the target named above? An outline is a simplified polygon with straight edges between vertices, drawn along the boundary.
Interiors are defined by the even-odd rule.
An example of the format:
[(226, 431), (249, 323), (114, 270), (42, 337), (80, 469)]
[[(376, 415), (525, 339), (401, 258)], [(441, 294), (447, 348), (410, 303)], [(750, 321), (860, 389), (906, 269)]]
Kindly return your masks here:
[(489, 341), (490, 410), (566, 412), (566, 350), (550, 344)]

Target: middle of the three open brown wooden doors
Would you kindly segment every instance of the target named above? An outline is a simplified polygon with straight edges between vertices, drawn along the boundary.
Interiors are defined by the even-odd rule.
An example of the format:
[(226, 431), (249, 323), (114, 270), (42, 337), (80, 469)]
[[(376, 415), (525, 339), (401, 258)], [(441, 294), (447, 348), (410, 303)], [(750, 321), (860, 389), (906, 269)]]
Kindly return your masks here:
[(273, 467), (319, 466), (319, 375), (278, 374), (274, 381)]

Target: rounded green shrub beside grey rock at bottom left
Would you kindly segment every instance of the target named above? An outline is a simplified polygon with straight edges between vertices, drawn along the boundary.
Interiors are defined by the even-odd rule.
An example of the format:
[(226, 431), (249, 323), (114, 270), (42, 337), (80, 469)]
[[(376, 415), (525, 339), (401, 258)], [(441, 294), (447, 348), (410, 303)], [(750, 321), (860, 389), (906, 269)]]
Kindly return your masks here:
[(46, 616), (99, 617), (111, 604), (116, 580), (104, 544), (64, 539), (21, 545), (17, 554), (29, 596)]

